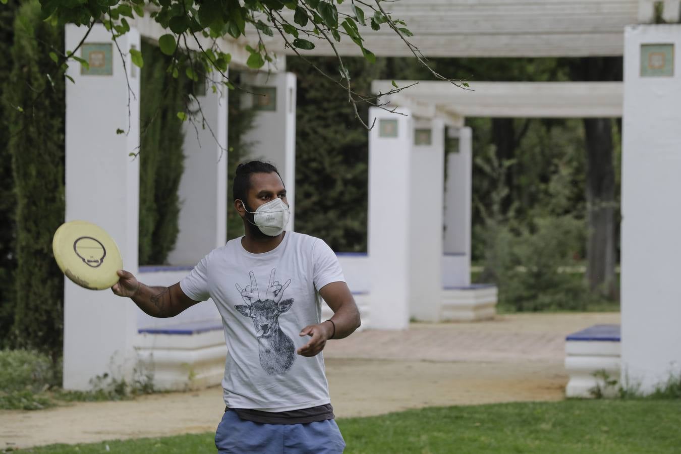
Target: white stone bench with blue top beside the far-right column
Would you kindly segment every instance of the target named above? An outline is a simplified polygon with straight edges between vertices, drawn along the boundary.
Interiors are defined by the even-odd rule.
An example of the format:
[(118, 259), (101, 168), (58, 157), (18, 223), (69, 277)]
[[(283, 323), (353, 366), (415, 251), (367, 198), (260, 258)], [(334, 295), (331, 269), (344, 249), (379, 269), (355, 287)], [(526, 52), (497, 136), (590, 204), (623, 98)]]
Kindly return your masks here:
[(592, 389), (615, 393), (616, 387), (604, 386), (602, 372), (620, 380), (620, 325), (593, 325), (565, 338), (565, 369), (569, 382), (568, 398), (594, 397)]

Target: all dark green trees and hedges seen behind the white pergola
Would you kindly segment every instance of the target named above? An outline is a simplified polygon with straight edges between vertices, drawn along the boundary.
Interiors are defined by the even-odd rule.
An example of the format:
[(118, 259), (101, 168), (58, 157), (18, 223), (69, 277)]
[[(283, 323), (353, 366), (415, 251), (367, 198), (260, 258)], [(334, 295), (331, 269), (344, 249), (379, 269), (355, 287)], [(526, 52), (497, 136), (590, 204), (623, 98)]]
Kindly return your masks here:
[[(48, 85), (44, 77), (53, 64), (48, 56), (53, 45), (63, 46), (63, 31), (41, 20), (37, 1), (9, 0), (0, 7), (0, 52), (5, 55), (0, 61), (0, 137), (6, 138), (0, 141), (0, 346), (47, 355), (52, 378), (41, 383), (50, 387), (61, 381), (63, 276), (50, 245), (64, 218), (65, 112), (63, 80)], [(142, 54), (140, 265), (157, 265), (165, 263), (176, 241), (183, 172), (177, 112), (191, 108), (189, 95), (196, 86), (181, 76), (183, 71), (171, 77), (165, 71), (168, 57), (153, 44), (144, 42)], [(313, 61), (336, 73), (336, 60)], [(368, 93), (375, 79), (430, 78), (413, 59), (371, 64), (349, 58), (345, 64), (360, 93)], [(622, 61), (435, 59), (431, 65), (471, 81), (621, 80)], [(296, 229), (324, 238), (338, 252), (366, 251), (366, 130), (347, 93), (315, 76), (300, 59), (289, 58), (287, 69), (298, 75)], [(232, 71), (232, 78), (238, 81), (238, 71)], [(35, 91), (43, 89), (34, 99)], [(240, 92), (231, 91), (230, 179), (238, 162), (257, 158), (244, 140), (255, 112), (240, 104)], [(367, 112), (368, 106), (360, 106), (364, 120)], [(590, 231), (605, 226), (614, 240), (619, 231), (620, 125), (599, 120), (600, 140), (588, 140), (594, 129), (588, 120), (466, 119), (474, 134), (473, 260), (480, 267), (475, 279), (498, 285), (501, 310), (618, 308), (617, 286), (605, 282), (605, 274), (597, 285), (585, 278), (592, 269), (586, 262)], [(586, 178), (594, 143), (601, 145), (596, 152), (609, 159), (601, 167), (611, 167), (612, 194), (605, 197), (605, 214), (614, 220), (609, 227), (590, 220), (599, 210), (593, 208)], [(451, 143), (447, 152), (455, 148)], [(411, 209), (415, 216), (429, 216)], [(230, 204), (229, 238), (242, 234), (240, 224)]]

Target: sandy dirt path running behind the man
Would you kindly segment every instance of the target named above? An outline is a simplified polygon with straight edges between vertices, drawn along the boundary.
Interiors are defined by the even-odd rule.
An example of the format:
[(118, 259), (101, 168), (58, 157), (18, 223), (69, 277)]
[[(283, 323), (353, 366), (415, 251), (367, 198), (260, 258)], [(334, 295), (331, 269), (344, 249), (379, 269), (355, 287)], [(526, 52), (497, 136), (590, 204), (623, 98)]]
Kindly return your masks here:
[[(509, 315), (483, 323), (422, 324), (364, 331), (330, 342), (326, 356), (338, 417), (422, 406), (560, 400), (567, 383), (565, 335), (619, 314)], [(81, 402), (41, 411), (0, 411), (0, 449), (208, 432), (222, 390)]]

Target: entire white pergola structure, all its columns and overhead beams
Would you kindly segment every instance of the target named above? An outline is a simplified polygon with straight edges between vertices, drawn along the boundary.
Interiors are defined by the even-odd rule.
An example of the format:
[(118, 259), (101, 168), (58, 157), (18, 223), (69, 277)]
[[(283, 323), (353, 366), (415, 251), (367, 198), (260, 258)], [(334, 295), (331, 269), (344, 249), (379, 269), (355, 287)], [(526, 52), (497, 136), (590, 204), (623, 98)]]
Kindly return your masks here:
[[(680, 1), (663, 3), (665, 20), (677, 22)], [(443, 318), (446, 304), (441, 292), (443, 283), (447, 286), (443, 269), (454, 270), (445, 273), (457, 280), (450, 286), (470, 283), (472, 157), (466, 116), (621, 115), (623, 370), (651, 389), (667, 374), (669, 364), (681, 363), (681, 305), (674, 274), (681, 256), (681, 212), (674, 209), (681, 191), (681, 65), (674, 61), (674, 46), (677, 55), (681, 47), (681, 26), (635, 25), (625, 33), (629, 24), (652, 22), (652, 0), (400, 0), (381, 5), (406, 20), (415, 34), (413, 43), (426, 56), (624, 55), (625, 82), (469, 81), (472, 91), (446, 82), (422, 82), (390, 97), (392, 106), (405, 115), (372, 108), (377, 127), (369, 133), (369, 257), (361, 272), (347, 272), (361, 274), (370, 286), (370, 325), (401, 329), (411, 316)], [(341, 10), (347, 7), (345, 1)], [(178, 248), (170, 258), (174, 265), (189, 268), (138, 266), (139, 161), (128, 153), (140, 143), (140, 80), (129, 50), (140, 48), (141, 36), (157, 39), (164, 33), (148, 16), (131, 22), (131, 31), (118, 39), (123, 55), (111, 48), (112, 71), (88, 74), (72, 65), (68, 74), (76, 84), (67, 84), (66, 91), (66, 220), (84, 218), (104, 227), (118, 242), (127, 270), (146, 272), (142, 280), (151, 285), (177, 282), (203, 255), (223, 245), (226, 229), (227, 93), (208, 90), (197, 97), (210, 130), (195, 132), (185, 125), (185, 174), (179, 191), (184, 204)], [(81, 37), (82, 29), (67, 27), (66, 48), (74, 48)], [(244, 66), (248, 57), (244, 46), (247, 41), (253, 44), (252, 38), (221, 41), (223, 50), (232, 54), (233, 65)], [(379, 56), (410, 55), (385, 25), (375, 33), (367, 27), (364, 38), (366, 48)], [(86, 40), (96, 46), (110, 43), (110, 34), (101, 26)], [(646, 56), (642, 46), (648, 46)], [(268, 49), (291, 54), (276, 38), (268, 41)], [(343, 55), (358, 54), (354, 44), (338, 49)], [(331, 50), (319, 44), (310, 53), (329, 55)], [(671, 59), (665, 69), (671, 68), (671, 74), (654, 78), (643, 74), (645, 65), (653, 72), (660, 62), (664, 68), (665, 58)], [(278, 67), (283, 71), (283, 59)], [(256, 142), (253, 157), (279, 167), (294, 202), (296, 78), (285, 72), (260, 73), (251, 74), (249, 82), (269, 94), (248, 137)], [(400, 86), (407, 83), (398, 81)], [(387, 84), (392, 85), (377, 81), (374, 89), (385, 92), (391, 88)], [(129, 133), (116, 134), (116, 128), (127, 131), (127, 125)], [(449, 178), (443, 194), (445, 127), (459, 137), (460, 150), (447, 161)], [(87, 388), (89, 378), (114, 368), (129, 377), (136, 361), (152, 354), (160, 368), (157, 378), (163, 379), (159, 371), (173, 370), (165, 385), (175, 387), (172, 380), (185, 373), (183, 364), (208, 363), (223, 354), (221, 336), (210, 338), (208, 347), (173, 340), (172, 348), (159, 351), (157, 338), (138, 336), (138, 328), (150, 323), (148, 317), (110, 292), (86, 291), (67, 281), (64, 305), (67, 389)], [(205, 317), (203, 308), (210, 305), (196, 305), (183, 316)], [(218, 361), (217, 368), (205, 369), (199, 379), (210, 383), (220, 376), (220, 368)]]

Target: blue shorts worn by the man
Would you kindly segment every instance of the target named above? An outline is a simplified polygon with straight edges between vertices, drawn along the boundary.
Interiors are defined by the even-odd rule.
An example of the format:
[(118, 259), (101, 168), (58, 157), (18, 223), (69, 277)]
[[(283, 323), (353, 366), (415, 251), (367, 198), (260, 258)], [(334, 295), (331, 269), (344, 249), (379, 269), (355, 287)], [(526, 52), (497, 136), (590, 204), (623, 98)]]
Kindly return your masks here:
[(227, 410), (215, 432), (221, 454), (340, 454), (345, 440), (336, 421), (307, 424), (262, 424), (240, 419)]

